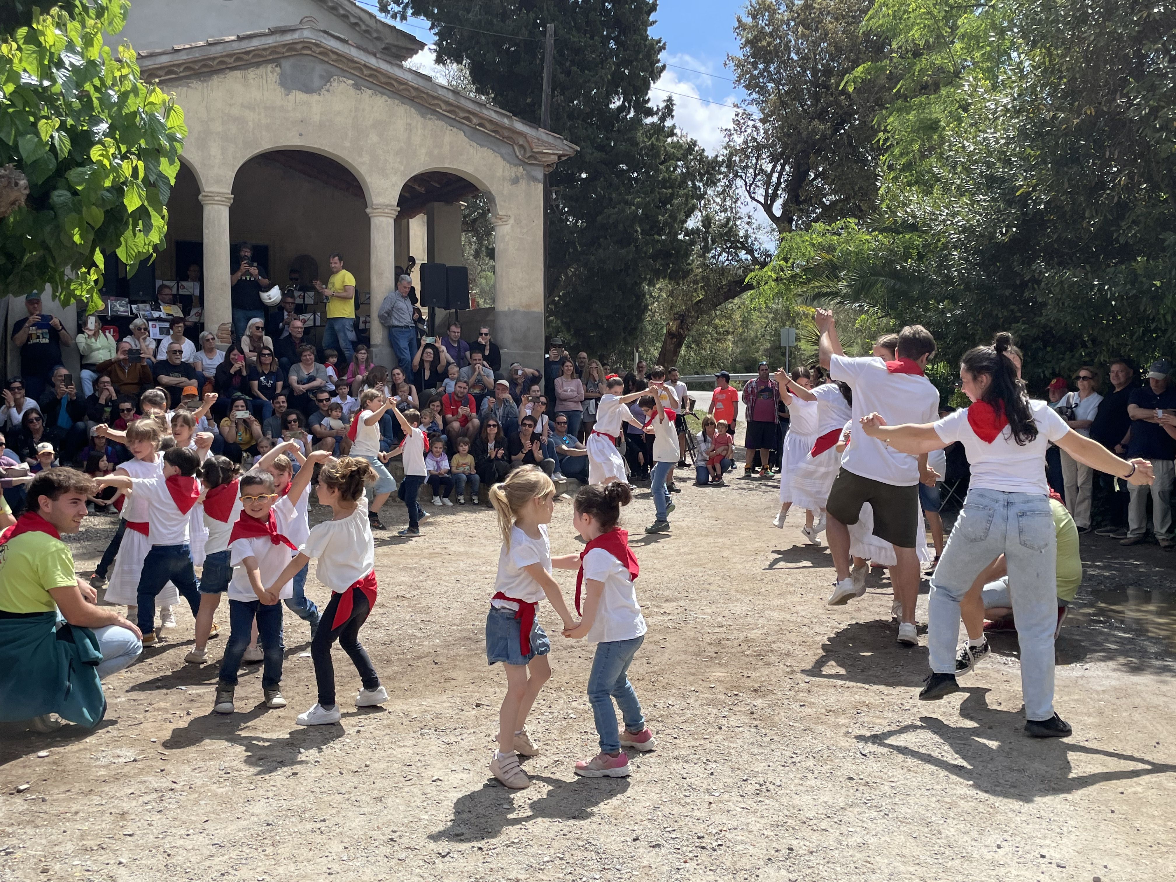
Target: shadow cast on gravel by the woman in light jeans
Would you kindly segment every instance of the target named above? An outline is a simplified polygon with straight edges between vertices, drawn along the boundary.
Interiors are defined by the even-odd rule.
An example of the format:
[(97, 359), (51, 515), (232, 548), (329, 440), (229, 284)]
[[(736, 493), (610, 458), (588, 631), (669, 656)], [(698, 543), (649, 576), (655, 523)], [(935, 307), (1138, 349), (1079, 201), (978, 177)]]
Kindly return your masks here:
[[(960, 706), (960, 715), (975, 726), (949, 726), (937, 717), (923, 716), (920, 726), (858, 735), (857, 741), (931, 766), (993, 796), (1022, 802), (1076, 793), (1109, 781), (1176, 773), (1176, 766), (1130, 754), (1101, 750), (1064, 739), (1031, 739), (1023, 731), (1024, 716), (1020, 710), (990, 708), (988, 689), (964, 691), (967, 697)], [(895, 743), (896, 739), (903, 743)], [(922, 749), (920, 742), (929, 749)], [(958, 761), (943, 757), (943, 747)]]

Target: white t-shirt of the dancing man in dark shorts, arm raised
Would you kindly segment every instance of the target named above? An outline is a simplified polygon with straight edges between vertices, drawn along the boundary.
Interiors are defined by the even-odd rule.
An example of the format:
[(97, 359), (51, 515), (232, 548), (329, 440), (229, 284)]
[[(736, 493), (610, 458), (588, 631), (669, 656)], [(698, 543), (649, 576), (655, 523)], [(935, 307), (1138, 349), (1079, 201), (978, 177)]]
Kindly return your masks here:
[[(891, 374), (882, 359), (848, 359), (834, 355), (829, 376), (843, 380), (854, 390), (854, 422), (878, 413), (888, 426), (935, 422), (940, 413), (940, 393), (920, 374)], [(854, 432), (854, 442), (846, 449), (841, 465), (855, 475), (882, 481), (895, 487), (918, 483), (918, 457), (898, 453), (864, 432)]]

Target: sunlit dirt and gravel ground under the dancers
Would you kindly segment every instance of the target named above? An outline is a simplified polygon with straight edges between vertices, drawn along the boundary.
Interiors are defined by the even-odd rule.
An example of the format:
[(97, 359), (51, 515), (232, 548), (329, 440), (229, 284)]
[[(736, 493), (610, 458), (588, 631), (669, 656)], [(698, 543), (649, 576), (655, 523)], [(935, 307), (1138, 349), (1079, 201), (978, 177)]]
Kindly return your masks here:
[[(592, 649), (560, 637), (533, 717), (534, 784), (488, 780), (499, 539), (490, 512), (454, 508), (420, 540), (377, 543), (381, 600), (362, 636), (393, 696), (383, 709), (350, 706), (359, 683), (336, 652), (343, 724), (296, 726), (314, 679), (287, 615), (290, 706), (266, 710), (248, 666), (243, 713), (216, 716), (218, 666), (182, 663), (192, 620), (178, 608), (174, 636), (108, 681), (96, 731), (0, 727), (0, 877), (1176, 878), (1172, 555), (1087, 537), (1089, 606), (1058, 643), (1075, 736), (1040, 742), (1021, 730), (1015, 642), (964, 693), (918, 702), (927, 650), (896, 644), (887, 584), (871, 576), (861, 601), (824, 606), (828, 553), (774, 529), (774, 499), (759, 481), (687, 486), (673, 533), (637, 540), (649, 635), (633, 679), (660, 748), (628, 780), (572, 774), (596, 749)], [(640, 533), (652, 509), (642, 490), (627, 526)], [(580, 547), (569, 520), (561, 502), (554, 553)], [(93, 519), (78, 537), (80, 572), (113, 526)], [(325, 599), (313, 575), (307, 587)], [(549, 609), (542, 621), (557, 633)]]

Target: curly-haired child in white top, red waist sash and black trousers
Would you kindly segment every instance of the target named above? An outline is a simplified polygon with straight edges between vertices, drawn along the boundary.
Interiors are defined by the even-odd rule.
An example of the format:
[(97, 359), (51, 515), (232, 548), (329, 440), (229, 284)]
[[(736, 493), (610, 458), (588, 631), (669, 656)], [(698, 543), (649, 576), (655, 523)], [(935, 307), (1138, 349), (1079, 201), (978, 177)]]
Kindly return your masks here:
[(363, 485), (374, 480), (375, 470), (358, 456), (343, 456), (322, 467), (319, 502), (328, 506), (334, 516), (310, 529), (294, 560), (269, 587), (270, 594), (280, 590), (312, 557), (318, 557), (315, 576), (332, 592), (330, 602), (322, 610), (322, 624), (310, 641), (319, 701), (305, 714), (299, 714), (299, 726), (327, 726), (340, 720), (335, 703), (335, 668), (330, 661), (330, 644), (335, 640), (350, 656), (363, 683), (355, 696), (355, 707), (372, 707), (388, 700), (380, 675), (359, 640), (360, 628), (376, 599), (375, 543), (363, 494)]

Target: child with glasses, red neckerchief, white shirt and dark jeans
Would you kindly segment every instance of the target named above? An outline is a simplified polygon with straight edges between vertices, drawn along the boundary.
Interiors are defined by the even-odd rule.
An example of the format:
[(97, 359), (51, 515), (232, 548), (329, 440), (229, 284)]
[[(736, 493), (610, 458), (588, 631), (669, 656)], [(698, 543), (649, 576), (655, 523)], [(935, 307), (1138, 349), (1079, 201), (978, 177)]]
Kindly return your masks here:
[(234, 569), (228, 583), (228, 643), (213, 704), (218, 714), (232, 714), (236, 709), (233, 703), (236, 671), (253, 640), (254, 622), (265, 654), (261, 688), (266, 707), (286, 707), (281, 693), (282, 607), (278, 601), (293, 596), (294, 592), (288, 586), (266, 586), (285, 570), (295, 547), (282, 535), (274, 516), (274, 503), (279, 499), (274, 476), (263, 469), (250, 469), (241, 476), (240, 489), (241, 516), (228, 537), (229, 564)]

